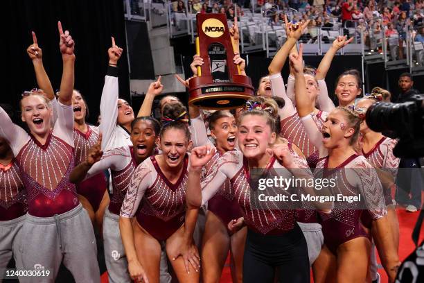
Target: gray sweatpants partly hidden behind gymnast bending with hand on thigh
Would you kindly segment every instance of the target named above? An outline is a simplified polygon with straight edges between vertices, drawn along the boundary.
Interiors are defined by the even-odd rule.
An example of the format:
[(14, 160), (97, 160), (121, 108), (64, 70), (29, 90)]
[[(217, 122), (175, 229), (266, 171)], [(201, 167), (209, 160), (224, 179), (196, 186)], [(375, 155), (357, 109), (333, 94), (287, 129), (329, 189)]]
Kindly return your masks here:
[[(109, 212), (107, 208), (103, 219), (103, 246), (109, 283), (131, 282), (128, 273), (128, 262), (119, 231), (119, 216)], [(170, 283), (168, 260), (164, 244), (161, 245), (160, 282)]]

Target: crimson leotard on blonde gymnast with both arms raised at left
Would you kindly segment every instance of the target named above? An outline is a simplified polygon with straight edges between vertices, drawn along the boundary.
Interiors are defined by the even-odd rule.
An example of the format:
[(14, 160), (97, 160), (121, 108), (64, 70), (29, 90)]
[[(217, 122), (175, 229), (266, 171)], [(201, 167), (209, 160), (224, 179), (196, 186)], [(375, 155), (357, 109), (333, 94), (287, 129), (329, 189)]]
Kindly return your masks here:
[(51, 217), (78, 206), (75, 185), (69, 182), (74, 166), (73, 108), (58, 102), (58, 120), (46, 143), (12, 123), (0, 108), (0, 136), (8, 141), (28, 193), (28, 212)]

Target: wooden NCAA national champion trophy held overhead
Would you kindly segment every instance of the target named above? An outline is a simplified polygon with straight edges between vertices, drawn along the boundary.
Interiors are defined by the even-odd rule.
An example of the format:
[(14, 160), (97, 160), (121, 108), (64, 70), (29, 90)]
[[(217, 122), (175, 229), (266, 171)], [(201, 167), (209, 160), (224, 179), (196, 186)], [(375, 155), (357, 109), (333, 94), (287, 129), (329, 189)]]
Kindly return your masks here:
[(243, 107), (254, 96), (254, 87), (233, 62), (227, 17), (199, 13), (196, 21), (196, 53), (204, 64), (197, 67), (197, 77), (188, 81), (188, 104), (215, 110)]

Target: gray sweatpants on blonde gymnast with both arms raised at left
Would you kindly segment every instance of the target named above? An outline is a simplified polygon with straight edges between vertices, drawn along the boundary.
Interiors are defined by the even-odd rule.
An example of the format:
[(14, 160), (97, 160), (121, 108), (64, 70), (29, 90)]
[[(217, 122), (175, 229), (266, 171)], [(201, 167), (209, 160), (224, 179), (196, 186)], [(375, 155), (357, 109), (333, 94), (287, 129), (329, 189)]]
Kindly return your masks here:
[(48, 277), (19, 277), (20, 282), (54, 282), (62, 261), (77, 283), (100, 282), (96, 237), (82, 205), (53, 217), (27, 214), (19, 233), (19, 252), (18, 269), (51, 272)]

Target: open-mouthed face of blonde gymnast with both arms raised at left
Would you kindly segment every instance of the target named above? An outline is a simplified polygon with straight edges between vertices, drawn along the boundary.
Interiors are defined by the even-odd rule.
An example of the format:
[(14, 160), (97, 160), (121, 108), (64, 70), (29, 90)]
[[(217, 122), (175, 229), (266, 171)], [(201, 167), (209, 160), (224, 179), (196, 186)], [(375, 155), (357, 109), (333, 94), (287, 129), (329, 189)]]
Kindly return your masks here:
[(33, 135), (44, 136), (50, 131), (53, 112), (48, 108), (46, 98), (38, 94), (22, 98), (21, 111), (21, 119)]

